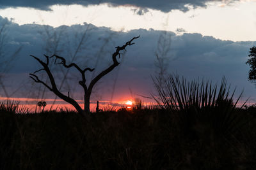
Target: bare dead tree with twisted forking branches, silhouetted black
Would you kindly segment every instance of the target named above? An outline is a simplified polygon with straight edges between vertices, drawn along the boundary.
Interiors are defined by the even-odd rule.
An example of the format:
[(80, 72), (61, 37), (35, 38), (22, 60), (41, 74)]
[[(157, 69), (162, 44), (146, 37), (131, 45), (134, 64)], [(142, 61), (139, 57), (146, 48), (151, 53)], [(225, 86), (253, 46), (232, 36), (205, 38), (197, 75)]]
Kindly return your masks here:
[[(38, 57), (35, 57), (33, 55), (31, 55), (31, 57), (33, 57), (34, 59), (36, 59), (42, 66), (42, 69), (39, 69), (37, 71), (35, 71), (33, 74), (29, 74), (30, 78), (32, 78), (36, 83), (42, 83), (42, 85), (44, 85), (45, 87), (47, 87), (47, 89), (51, 90), (54, 94), (56, 94), (56, 96), (60, 97), (61, 99), (63, 99), (64, 101), (66, 101), (67, 103), (72, 104), (76, 110), (81, 113), (82, 115), (84, 115), (84, 113), (90, 113), (90, 96), (92, 94), (92, 89), (93, 86), (95, 85), (95, 83), (97, 83), (97, 81), (100, 80), (100, 78), (102, 78), (103, 76), (105, 76), (106, 74), (108, 74), (109, 72), (111, 72), (116, 66), (118, 66), (120, 63), (116, 60), (116, 57), (118, 56), (120, 58), (120, 51), (125, 50), (126, 46), (130, 46), (133, 45), (134, 43), (132, 43), (132, 41), (134, 39), (139, 38), (140, 36), (134, 37), (132, 38), (130, 41), (127, 41), (125, 43), (125, 45), (123, 46), (116, 46), (116, 51), (113, 53), (112, 55), (112, 60), (113, 60), (113, 64), (111, 64), (111, 66), (109, 66), (107, 69), (105, 69), (104, 71), (102, 71), (101, 73), (99, 73), (97, 76), (95, 76), (95, 78), (93, 78), (93, 80), (90, 82), (90, 84), (86, 85), (86, 78), (85, 78), (85, 72), (86, 71), (94, 71), (94, 68), (90, 68), (90, 67), (86, 67), (84, 69), (81, 69), (81, 67), (77, 66), (77, 64), (75, 63), (71, 63), (71, 64), (66, 64), (66, 60), (63, 57), (60, 57), (58, 55), (52, 55), (51, 57), (44, 55), (46, 58), (46, 62), (38, 59)], [(82, 80), (79, 81), (79, 85), (81, 85), (84, 89), (84, 110), (81, 108), (81, 106), (79, 106), (79, 104), (72, 99), (71, 97), (66, 96), (65, 94), (62, 94), (60, 92), (60, 90), (58, 90), (58, 88), (56, 87), (56, 83), (54, 80), (54, 77), (49, 69), (49, 59), (54, 57), (55, 58), (55, 62), (54, 64), (62, 64), (64, 67), (66, 68), (70, 68), (70, 67), (75, 67), (77, 69), (77, 71), (79, 71), (81, 73), (82, 76)], [(61, 62), (58, 62), (58, 60), (61, 60)], [(44, 70), (47, 73), (47, 76), (49, 77), (49, 80), (51, 81), (51, 85), (47, 85), (47, 83), (45, 83), (44, 81), (40, 80), (38, 78), (38, 76), (36, 76), (36, 72), (42, 71)]]

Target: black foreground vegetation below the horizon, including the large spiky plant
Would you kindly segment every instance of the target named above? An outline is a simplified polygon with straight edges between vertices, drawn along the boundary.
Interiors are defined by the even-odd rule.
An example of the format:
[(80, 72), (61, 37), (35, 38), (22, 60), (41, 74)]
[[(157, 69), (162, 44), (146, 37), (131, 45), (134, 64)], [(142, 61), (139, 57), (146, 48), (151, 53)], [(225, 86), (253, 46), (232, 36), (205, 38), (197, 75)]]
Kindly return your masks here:
[(255, 169), (255, 106), (237, 108), (225, 81), (157, 81), (161, 108), (87, 120), (0, 104), (0, 169)]

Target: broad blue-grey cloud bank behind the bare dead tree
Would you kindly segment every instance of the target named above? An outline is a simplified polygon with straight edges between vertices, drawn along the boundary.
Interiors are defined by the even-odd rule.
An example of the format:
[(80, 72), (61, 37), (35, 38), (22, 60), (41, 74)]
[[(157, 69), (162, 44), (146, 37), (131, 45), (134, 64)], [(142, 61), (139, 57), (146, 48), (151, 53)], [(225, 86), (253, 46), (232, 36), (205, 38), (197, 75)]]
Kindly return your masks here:
[[(0, 23), (3, 20), (5, 19), (0, 17)], [(29, 55), (44, 59), (43, 54), (54, 53), (55, 48), (52, 46), (56, 43), (58, 45), (55, 46), (55, 53), (70, 60), (70, 56), (76, 52), (78, 40), (86, 29), (88, 30), (86, 39), (77, 53), (75, 62), (81, 67), (97, 65), (95, 69), (97, 73), (111, 64), (111, 55), (115, 51), (115, 46), (124, 45), (132, 37), (140, 35), (134, 45), (127, 46), (127, 52), (119, 59), (121, 65), (103, 78), (104, 83), (101, 85), (105, 91), (101, 94), (109, 96), (114, 80), (117, 80), (115, 87), (117, 94), (129, 94), (129, 89), (132, 89), (134, 94), (147, 95), (154, 89), (150, 76), (156, 75), (157, 72), (154, 64), (155, 53), (159, 36), (164, 32), (153, 29), (114, 32), (107, 27), (88, 24), (53, 28), (47, 25), (17, 25), (9, 22), (6, 50), (12, 51), (22, 45), (22, 51), (11, 70), (13, 75), (17, 75), (15, 81), (29, 80), (28, 76), (19, 76), (19, 74), (28, 75), (40, 68)], [(223, 41), (196, 33), (185, 33), (181, 36), (174, 32), (168, 34), (172, 35), (171, 48), (166, 60), (168, 73), (179, 73), (189, 80), (204, 77), (213, 82), (220, 81), (222, 76), (226, 76), (229, 83), (237, 85), (238, 91), (244, 89), (245, 96), (256, 96), (254, 85), (247, 80), (249, 67), (245, 64), (248, 51), (250, 47), (256, 45), (256, 42)], [(57, 42), (56, 39), (60, 41)], [(98, 64), (95, 65), (96, 62)], [(74, 75), (77, 75), (76, 71), (72, 71), (70, 78), (76, 78)], [(91, 76), (92, 74), (88, 73), (89, 80)], [(10, 87), (15, 84), (19, 83), (9, 83)]]

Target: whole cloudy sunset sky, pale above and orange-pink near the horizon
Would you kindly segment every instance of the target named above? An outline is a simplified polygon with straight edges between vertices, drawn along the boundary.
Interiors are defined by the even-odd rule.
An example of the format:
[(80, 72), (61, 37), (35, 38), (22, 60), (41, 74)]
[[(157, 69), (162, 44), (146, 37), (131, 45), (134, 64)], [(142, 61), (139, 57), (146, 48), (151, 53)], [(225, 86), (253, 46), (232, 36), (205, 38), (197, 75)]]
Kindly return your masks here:
[[(237, 87), (237, 95), (244, 90), (242, 100), (250, 97), (248, 104), (256, 103), (256, 87), (248, 81), (250, 67), (245, 64), (250, 47), (256, 45), (255, 7), (253, 0), (0, 0), (0, 28), (5, 25), (0, 32), (0, 99), (31, 98), (27, 104), (35, 104), (33, 99), (51, 103), (55, 98), (29, 78), (40, 69), (29, 55), (44, 59), (44, 54), (56, 53), (81, 67), (95, 67), (95, 73), (86, 74), (90, 81), (111, 64), (115, 46), (140, 35), (127, 46), (120, 66), (97, 84), (92, 101), (125, 104), (154, 94), (152, 77), (159, 73), (156, 53), (161, 53), (157, 47), (166, 41), (170, 42), (162, 56), (166, 73), (213, 83), (225, 76), (232, 89)], [(61, 85), (65, 71), (52, 67), (61, 92), (70, 91), (81, 101), (79, 73), (71, 69)], [(46, 80), (43, 72), (38, 76)]]

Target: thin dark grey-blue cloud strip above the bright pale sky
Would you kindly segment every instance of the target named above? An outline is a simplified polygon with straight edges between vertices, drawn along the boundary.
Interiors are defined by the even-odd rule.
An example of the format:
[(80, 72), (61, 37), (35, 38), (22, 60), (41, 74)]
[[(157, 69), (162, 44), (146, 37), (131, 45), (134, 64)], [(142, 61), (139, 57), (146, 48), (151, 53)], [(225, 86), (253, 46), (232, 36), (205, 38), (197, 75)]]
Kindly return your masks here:
[[(159, 0), (159, 1), (145, 1), (145, 0), (103, 0), (103, 1), (94, 1), (94, 0), (44, 0), (44, 1), (38, 1), (38, 0), (12, 0), (12, 1), (6, 1), (1, 0), (0, 1), (0, 7), (6, 8), (6, 7), (31, 7), (31, 8), (38, 8), (40, 10), (49, 10), (49, 6), (54, 4), (81, 4), (84, 6), (88, 6), (90, 4), (100, 4), (100, 3), (108, 3), (112, 6), (120, 6), (120, 5), (130, 5), (130, 6), (137, 6), (141, 8), (141, 10), (138, 11), (138, 15), (141, 15), (143, 12), (145, 12), (146, 8), (152, 8), (154, 10), (161, 10), (164, 12), (168, 12), (171, 10), (181, 10), (181, 11), (188, 11), (187, 4), (193, 6), (193, 8), (198, 7), (205, 7), (206, 3), (211, 1), (222, 1), (222, 0)], [(238, 0), (232, 0), (238, 1)], [(144, 9), (144, 10), (143, 10)]]

